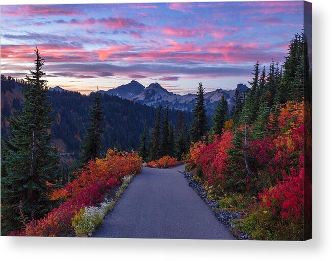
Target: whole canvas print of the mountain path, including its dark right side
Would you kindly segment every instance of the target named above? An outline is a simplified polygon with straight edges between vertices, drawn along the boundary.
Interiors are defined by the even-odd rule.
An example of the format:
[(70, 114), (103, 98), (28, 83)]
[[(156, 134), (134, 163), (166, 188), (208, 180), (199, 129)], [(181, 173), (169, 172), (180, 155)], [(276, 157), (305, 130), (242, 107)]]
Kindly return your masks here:
[(1, 235), (312, 237), (312, 5), (1, 6)]

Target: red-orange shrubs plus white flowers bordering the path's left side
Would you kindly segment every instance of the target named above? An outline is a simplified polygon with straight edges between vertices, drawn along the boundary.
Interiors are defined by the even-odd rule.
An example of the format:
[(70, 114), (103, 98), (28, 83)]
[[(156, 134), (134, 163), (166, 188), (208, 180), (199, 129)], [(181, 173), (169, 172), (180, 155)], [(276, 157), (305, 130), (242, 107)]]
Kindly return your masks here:
[[(91, 234), (123, 193), (132, 175), (141, 171), (142, 159), (135, 152), (108, 150), (105, 158), (89, 161), (76, 179), (56, 189), (50, 199), (59, 206), (39, 220), (24, 222), (21, 230), (9, 235), (72, 236)], [(105, 200), (110, 190), (120, 186), (114, 201)], [(73, 222), (74, 220), (74, 222)]]

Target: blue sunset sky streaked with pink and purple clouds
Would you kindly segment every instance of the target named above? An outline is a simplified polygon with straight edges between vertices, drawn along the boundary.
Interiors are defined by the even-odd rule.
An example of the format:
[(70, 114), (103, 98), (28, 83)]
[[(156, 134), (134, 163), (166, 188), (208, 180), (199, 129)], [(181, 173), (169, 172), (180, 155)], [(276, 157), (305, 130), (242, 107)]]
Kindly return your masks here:
[(302, 1), (2, 5), (1, 73), (24, 78), (37, 45), (49, 87), (234, 89), (257, 61), (283, 63), (302, 29)]

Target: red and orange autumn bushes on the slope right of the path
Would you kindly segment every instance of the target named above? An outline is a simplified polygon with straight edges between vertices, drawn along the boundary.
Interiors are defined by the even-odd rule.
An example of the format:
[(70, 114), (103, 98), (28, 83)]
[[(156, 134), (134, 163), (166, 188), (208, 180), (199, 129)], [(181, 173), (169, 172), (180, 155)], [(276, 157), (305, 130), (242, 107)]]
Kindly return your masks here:
[[(308, 192), (304, 191), (303, 104), (287, 102), (280, 108), (275, 133), (262, 140), (248, 138), (247, 153), (251, 156), (253, 175), (247, 175), (245, 180), (247, 194), (259, 198), (258, 209), (248, 219), (256, 220), (253, 222), (255, 229), (262, 231), (257, 233), (257, 239), (300, 239), (304, 214), (311, 215), (310, 207), (304, 207), (304, 195), (311, 197), (311, 187)], [(271, 114), (270, 122), (272, 120)], [(215, 188), (225, 189), (224, 193), (227, 193), (225, 182), (239, 178), (228, 169), (231, 158), (227, 153), (234, 146), (233, 140), (231, 130), (224, 130), (210, 143), (194, 144), (189, 152), (189, 163), (196, 173)], [(304, 209), (307, 212), (304, 213)]]

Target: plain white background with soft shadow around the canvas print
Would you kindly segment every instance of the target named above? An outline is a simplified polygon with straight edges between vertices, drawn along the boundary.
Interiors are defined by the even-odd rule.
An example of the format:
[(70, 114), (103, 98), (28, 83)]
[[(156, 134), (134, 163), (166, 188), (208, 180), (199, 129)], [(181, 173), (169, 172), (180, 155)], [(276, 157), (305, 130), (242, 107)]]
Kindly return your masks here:
[[(5, 1), (3, 1), (5, 2)], [(6, 1), (7, 2), (7, 1)], [(4, 4), (84, 4), (86, 0), (18, 1)], [(154, 3), (166, 1), (105, 1)], [(190, 2), (190, 1), (168, 1)], [(207, 2), (207, 1), (199, 1)], [(212, 2), (212, 1), (208, 1)], [(330, 1), (313, 2), (313, 173), (314, 239), (307, 242), (145, 240), (84, 238), (0, 238), (3, 260), (327, 260), (331, 230), (331, 48)]]

